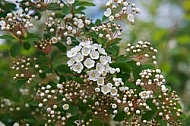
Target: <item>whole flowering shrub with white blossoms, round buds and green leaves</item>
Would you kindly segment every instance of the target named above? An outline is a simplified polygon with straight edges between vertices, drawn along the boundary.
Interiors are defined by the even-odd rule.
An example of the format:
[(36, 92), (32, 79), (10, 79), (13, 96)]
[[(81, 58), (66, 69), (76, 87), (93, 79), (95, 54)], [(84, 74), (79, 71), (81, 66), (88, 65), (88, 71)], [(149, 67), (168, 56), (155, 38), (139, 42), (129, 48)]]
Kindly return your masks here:
[[(122, 27), (116, 22), (134, 24), (140, 13), (134, 3), (108, 0), (95, 22), (84, 13), (94, 4), (83, 0), (22, 0), (21, 13), (12, 11), (13, 3), (1, 4), (10, 8), (1, 9), (6, 34), (0, 38), (13, 43), (16, 61), (10, 68), (22, 96), (20, 101), (1, 97), (3, 123), (182, 125), (179, 98), (156, 66), (157, 50), (143, 41), (126, 42), (124, 52), (118, 45)], [(36, 25), (40, 21), (42, 26)], [(26, 50), (34, 51), (23, 55)]]

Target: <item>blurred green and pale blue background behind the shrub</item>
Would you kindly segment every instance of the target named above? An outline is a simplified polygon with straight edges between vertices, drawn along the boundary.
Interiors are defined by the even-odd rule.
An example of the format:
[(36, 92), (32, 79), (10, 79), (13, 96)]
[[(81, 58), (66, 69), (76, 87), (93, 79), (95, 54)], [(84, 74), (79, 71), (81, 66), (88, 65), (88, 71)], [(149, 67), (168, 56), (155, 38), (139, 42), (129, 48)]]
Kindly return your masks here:
[[(101, 18), (106, 0), (94, 0), (97, 4), (87, 10), (88, 17)], [(188, 118), (184, 126), (190, 125), (190, 0), (133, 0), (141, 9), (135, 25), (122, 24), (121, 45), (150, 41), (158, 49), (158, 67), (162, 69), (167, 84), (176, 90), (181, 98)], [(0, 34), (4, 34), (1, 32)], [(9, 54), (12, 42), (0, 44), (0, 97), (13, 99), (17, 96), (13, 73), (9, 67), (14, 58)], [(33, 50), (23, 52), (25, 55)], [(19, 97), (19, 95), (18, 95)], [(15, 99), (13, 99), (15, 100)], [(17, 99), (18, 100), (18, 99)]]

